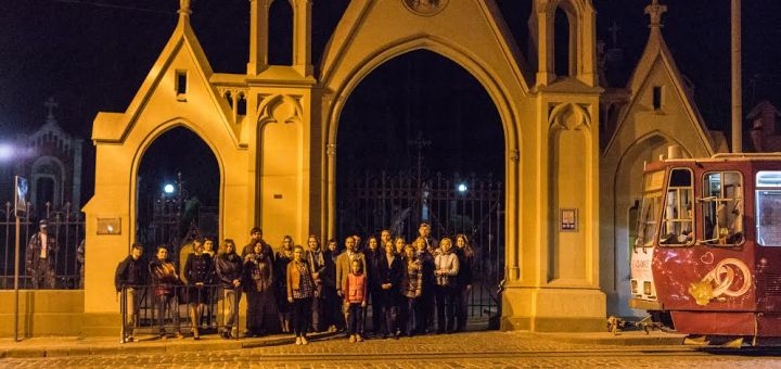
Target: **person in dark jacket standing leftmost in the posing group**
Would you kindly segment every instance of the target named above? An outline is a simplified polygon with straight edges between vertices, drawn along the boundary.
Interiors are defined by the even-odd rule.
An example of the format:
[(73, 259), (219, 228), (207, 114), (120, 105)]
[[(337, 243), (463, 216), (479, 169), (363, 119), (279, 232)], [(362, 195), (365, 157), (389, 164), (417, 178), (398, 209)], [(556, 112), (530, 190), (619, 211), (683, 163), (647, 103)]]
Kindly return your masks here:
[[(138, 304), (141, 301), (142, 290), (146, 284), (146, 264), (141, 259), (143, 254), (143, 245), (133, 243), (130, 247), (130, 255), (117, 265), (114, 273), (114, 287), (117, 291), (117, 298), (121, 297), (123, 290), (125, 292), (123, 306), (123, 320), (125, 326), (123, 329), (121, 342), (133, 341), (133, 328), (138, 321)], [(121, 305), (120, 305), (121, 306)]]

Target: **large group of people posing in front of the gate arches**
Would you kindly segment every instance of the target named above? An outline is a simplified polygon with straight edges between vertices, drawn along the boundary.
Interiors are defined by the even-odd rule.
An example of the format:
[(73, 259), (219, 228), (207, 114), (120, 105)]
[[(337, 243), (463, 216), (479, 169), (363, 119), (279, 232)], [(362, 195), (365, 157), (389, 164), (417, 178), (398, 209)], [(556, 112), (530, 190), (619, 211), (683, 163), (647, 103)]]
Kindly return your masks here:
[[(205, 250), (213, 247), (214, 240), (196, 239), (181, 275), (165, 246), (158, 246), (156, 257), (144, 265), (142, 245), (133, 244), (115, 275), (117, 293), (125, 295), (123, 341), (133, 340), (137, 293), (148, 284), (162, 338), (167, 338), (166, 313), (175, 335), (183, 336), (178, 313), (178, 297), (183, 295), (193, 339), (199, 340), (202, 317), (215, 293), (223, 300), (219, 329), (223, 339), (239, 334), (233, 328), (243, 294), (244, 336), (293, 333), (299, 345), (308, 344), (309, 332), (344, 331), (349, 342), (361, 342), (369, 335), (398, 339), (465, 329), (474, 260), (465, 234), (437, 241), (431, 237), (431, 226), (422, 222), (411, 243), (383, 230), (366, 244), (359, 236), (346, 237), (344, 251), (335, 239), (322, 247), (316, 236), (309, 236), (304, 247), (285, 236), (277, 253), (264, 241), (260, 228), (253, 228), (251, 237), (242, 250), (226, 239), (216, 255)], [(367, 321), (368, 307), (371, 321)]]

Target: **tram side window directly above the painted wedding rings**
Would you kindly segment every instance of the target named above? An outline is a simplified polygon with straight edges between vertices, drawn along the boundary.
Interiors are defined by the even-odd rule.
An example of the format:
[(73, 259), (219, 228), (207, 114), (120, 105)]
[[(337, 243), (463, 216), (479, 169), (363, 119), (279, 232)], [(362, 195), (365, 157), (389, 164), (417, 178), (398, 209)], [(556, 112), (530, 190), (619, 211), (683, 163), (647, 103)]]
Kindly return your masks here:
[(738, 171), (707, 173), (703, 177), (704, 242), (743, 243), (743, 179)]

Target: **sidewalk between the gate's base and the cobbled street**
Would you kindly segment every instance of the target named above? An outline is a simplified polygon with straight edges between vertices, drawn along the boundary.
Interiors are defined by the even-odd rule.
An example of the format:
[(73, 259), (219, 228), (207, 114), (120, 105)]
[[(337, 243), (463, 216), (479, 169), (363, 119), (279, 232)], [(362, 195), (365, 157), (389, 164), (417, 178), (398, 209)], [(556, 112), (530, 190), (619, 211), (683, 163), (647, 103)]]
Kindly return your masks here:
[[(338, 343), (343, 335), (337, 333), (310, 334), (309, 346), (317, 347), (320, 341)], [(447, 335), (425, 335), (420, 338), (399, 341), (386, 340), (387, 342), (399, 342), (402, 345), (418, 346), (419, 343), (428, 341), (448, 342), (458, 347), (475, 353), (489, 351), (512, 351), (523, 352), (532, 349), (547, 349), (548, 347), (573, 346), (579, 349), (607, 348), (610, 346), (658, 346), (669, 345), (680, 347), (683, 343), (683, 334), (665, 333), (652, 331), (646, 334), (643, 331), (626, 331), (618, 335), (610, 332), (591, 333), (532, 333), (532, 332), (466, 332)], [(52, 356), (79, 356), (79, 355), (126, 355), (126, 354), (166, 354), (184, 353), (194, 351), (225, 351), (254, 348), (263, 346), (291, 345), (294, 338), (290, 334), (276, 334), (265, 338), (252, 338), (241, 340), (222, 340), (216, 334), (202, 335), (201, 340), (192, 338), (161, 340), (153, 335), (138, 335), (136, 342), (119, 343), (119, 338), (108, 336), (50, 336), (33, 338), (14, 342), (11, 339), (0, 339), (0, 358), (3, 357), (52, 357)], [(369, 340), (381, 341), (382, 340)], [(345, 340), (345, 344), (346, 340)], [(382, 345), (381, 345), (382, 346)]]

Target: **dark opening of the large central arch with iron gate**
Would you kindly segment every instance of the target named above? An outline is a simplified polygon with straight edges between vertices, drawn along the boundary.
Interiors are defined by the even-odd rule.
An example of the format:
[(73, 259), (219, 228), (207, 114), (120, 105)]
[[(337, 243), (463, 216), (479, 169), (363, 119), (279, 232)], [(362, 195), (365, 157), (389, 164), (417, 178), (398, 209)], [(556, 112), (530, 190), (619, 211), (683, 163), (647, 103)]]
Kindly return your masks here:
[(437, 239), (466, 234), (476, 253), (470, 327), (494, 327), (504, 269), (504, 137), (485, 88), (451, 60), (413, 51), (360, 82), (338, 127), (338, 239), (390, 229), (411, 243), (421, 221)]

